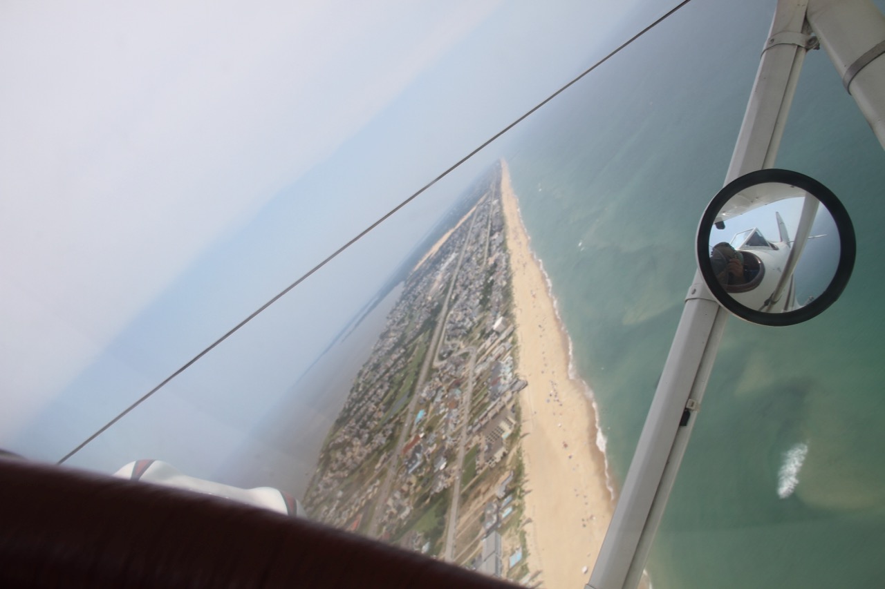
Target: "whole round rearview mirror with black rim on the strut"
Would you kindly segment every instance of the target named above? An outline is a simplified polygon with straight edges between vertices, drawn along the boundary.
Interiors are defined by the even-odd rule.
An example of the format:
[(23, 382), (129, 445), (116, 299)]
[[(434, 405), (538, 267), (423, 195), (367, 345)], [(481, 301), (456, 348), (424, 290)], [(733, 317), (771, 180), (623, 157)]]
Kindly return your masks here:
[(835, 195), (804, 174), (759, 170), (722, 188), (697, 229), (697, 265), (732, 313), (794, 325), (842, 294), (857, 245)]

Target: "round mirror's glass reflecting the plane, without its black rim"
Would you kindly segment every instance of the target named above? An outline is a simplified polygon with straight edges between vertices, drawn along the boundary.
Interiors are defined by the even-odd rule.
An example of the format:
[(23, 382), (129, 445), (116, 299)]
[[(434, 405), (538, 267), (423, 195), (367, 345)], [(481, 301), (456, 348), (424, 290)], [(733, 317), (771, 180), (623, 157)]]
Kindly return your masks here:
[[(752, 203), (770, 201), (752, 208)], [(782, 313), (819, 297), (840, 259), (833, 216), (802, 188), (766, 182), (727, 201), (710, 232), (720, 285), (750, 310)]]

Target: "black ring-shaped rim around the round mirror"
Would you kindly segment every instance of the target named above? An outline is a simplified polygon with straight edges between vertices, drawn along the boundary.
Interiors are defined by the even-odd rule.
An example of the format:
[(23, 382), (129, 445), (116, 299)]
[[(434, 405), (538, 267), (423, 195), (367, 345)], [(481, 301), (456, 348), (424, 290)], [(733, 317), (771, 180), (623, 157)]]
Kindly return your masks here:
[[(757, 184), (765, 184), (768, 182), (777, 182), (780, 184), (789, 184), (802, 188), (811, 195), (820, 200), (830, 215), (833, 216), (836, 228), (839, 230), (839, 264), (836, 267), (835, 276), (829, 286), (812, 302), (804, 307), (787, 311), (785, 313), (764, 313), (759, 310), (750, 309), (736, 302), (727, 294), (719, 280), (712, 270), (710, 264), (710, 232), (716, 217), (719, 215), (722, 207), (732, 196), (742, 190), (756, 186)], [(848, 216), (848, 211), (839, 199), (819, 181), (814, 180), (802, 173), (790, 170), (781, 170), (778, 168), (768, 168), (766, 170), (758, 170), (744, 174), (740, 178), (732, 180), (723, 187), (717, 195), (713, 196), (710, 204), (704, 210), (704, 216), (701, 218), (700, 224), (697, 226), (696, 240), (696, 258), (697, 267), (704, 277), (707, 288), (720, 304), (727, 310), (734, 313), (737, 317), (746, 319), (752, 323), (759, 325), (796, 325), (820, 315), (821, 312), (833, 304), (836, 299), (842, 295), (848, 280), (851, 277), (851, 271), (854, 270), (854, 258), (857, 255), (857, 241), (855, 241), (854, 226)]]

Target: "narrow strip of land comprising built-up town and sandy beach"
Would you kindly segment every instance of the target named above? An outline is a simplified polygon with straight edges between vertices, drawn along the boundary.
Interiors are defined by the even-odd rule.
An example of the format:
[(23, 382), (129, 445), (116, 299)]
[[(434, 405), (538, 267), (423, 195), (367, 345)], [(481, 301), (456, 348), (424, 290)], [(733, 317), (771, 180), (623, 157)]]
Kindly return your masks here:
[(592, 391), (504, 160), (467, 202), (405, 279), (304, 506), (519, 585), (581, 586), (614, 503)]

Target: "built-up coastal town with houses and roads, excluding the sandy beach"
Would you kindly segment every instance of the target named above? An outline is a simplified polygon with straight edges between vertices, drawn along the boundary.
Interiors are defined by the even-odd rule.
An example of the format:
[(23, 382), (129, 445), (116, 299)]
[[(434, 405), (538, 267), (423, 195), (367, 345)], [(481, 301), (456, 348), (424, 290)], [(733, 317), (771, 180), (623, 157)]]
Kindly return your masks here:
[(530, 584), (501, 168), (406, 280), (319, 456), (319, 521)]

